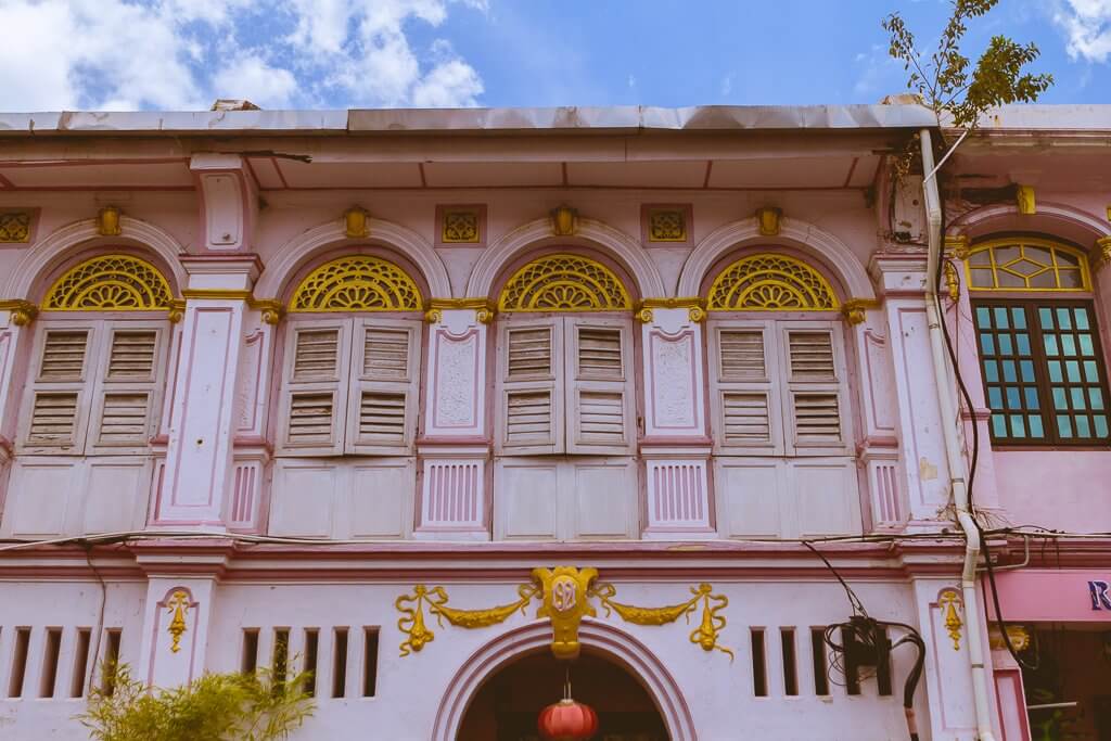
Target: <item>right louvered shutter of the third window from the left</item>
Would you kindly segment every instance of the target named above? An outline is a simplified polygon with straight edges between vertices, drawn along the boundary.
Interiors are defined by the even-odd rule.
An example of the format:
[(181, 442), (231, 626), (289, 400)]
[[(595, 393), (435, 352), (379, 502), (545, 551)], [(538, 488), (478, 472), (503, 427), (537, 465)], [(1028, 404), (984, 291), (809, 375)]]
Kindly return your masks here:
[(637, 442), (625, 319), (565, 317), (568, 452), (622, 454)]

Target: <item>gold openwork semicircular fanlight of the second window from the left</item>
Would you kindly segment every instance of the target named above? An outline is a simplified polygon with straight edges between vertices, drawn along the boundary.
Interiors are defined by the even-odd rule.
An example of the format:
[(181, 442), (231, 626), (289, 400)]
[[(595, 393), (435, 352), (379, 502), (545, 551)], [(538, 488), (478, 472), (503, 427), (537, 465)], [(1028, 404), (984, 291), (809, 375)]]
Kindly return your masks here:
[(352, 254), (320, 266), (293, 291), (296, 311), (421, 311), (417, 283), (392, 262)]

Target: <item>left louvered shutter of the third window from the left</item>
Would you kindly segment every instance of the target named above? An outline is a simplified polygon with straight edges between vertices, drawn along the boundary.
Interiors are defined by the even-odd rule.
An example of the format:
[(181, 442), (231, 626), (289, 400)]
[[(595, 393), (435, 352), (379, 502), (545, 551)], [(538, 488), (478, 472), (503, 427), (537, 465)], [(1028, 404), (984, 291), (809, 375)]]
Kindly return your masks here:
[(499, 324), (499, 452), (563, 452), (562, 320), (507, 317)]

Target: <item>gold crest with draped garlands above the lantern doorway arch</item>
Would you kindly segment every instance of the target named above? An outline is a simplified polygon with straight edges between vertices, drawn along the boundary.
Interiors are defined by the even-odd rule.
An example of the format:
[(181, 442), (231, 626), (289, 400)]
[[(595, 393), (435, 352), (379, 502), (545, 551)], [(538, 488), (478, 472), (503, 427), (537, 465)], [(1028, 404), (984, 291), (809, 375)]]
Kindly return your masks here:
[(479, 610), (450, 607), (448, 592), (443, 587), (416, 584), (412, 593), (402, 594), (393, 603), (401, 613), (398, 630), (404, 635), (399, 645), (401, 655), (419, 652), (436, 639), (436, 633), (428, 627), (426, 610), (436, 615), (441, 628), (444, 621), (457, 628), (487, 628), (504, 622), (517, 612), (524, 614), (529, 603), (539, 597), (537, 618), (551, 621), (551, 650), (558, 659), (574, 659), (579, 655), (579, 625), (584, 617), (593, 618), (598, 614), (591, 600), (597, 600), (602, 605), (607, 618), (617, 613), (625, 622), (637, 625), (667, 625), (679, 618), (685, 618), (689, 624), (691, 615), (701, 608), (699, 624), (689, 634), (690, 642), (703, 651), (718, 650), (728, 654), (730, 660), (733, 659), (733, 652), (718, 642), (725, 628), (722, 611), (729, 605), (729, 599), (724, 594), (714, 594), (712, 584), (691, 587), (691, 598), (684, 602), (644, 608), (618, 602), (614, 599), (617, 588), (598, 582), (597, 569), (537, 568), (532, 570), (531, 577), (530, 583), (517, 588), (517, 601)]

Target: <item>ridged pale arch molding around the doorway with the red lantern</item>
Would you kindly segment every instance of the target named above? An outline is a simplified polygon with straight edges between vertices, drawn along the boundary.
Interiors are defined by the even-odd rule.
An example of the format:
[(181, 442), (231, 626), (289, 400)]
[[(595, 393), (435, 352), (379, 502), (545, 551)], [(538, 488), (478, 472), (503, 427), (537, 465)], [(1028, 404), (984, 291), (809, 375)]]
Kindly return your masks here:
[[(467, 707), (479, 688), (499, 669), (528, 653), (549, 650), (551, 623), (537, 621), (502, 633), (463, 662), (448, 682), (432, 728), (433, 741), (454, 741)], [(584, 619), (579, 627), (579, 642), (594, 649), (628, 669), (644, 687), (674, 741), (697, 741), (691, 717), (679, 684), (660, 659), (623, 630), (600, 620)]]

